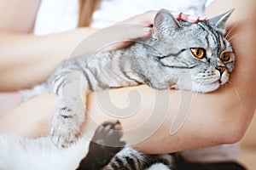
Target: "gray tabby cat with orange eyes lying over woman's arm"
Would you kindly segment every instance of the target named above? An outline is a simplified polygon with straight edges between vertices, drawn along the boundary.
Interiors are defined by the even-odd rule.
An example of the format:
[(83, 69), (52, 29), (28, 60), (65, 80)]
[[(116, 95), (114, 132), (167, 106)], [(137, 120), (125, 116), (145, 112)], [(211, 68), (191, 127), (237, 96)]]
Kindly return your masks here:
[[(86, 99), (81, 99), (80, 92), (85, 96), (91, 91), (148, 84), (156, 89), (207, 93), (228, 82), (235, 55), (224, 37), (224, 26), (231, 12), (190, 24), (161, 9), (154, 19), (152, 37), (125, 49), (63, 62), (28, 95), (58, 94), (50, 132), (55, 144), (67, 147), (79, 136), (78, 129), (86, 118)], [(108, 169), (144, 167), (143, 155), (125, 149)]]

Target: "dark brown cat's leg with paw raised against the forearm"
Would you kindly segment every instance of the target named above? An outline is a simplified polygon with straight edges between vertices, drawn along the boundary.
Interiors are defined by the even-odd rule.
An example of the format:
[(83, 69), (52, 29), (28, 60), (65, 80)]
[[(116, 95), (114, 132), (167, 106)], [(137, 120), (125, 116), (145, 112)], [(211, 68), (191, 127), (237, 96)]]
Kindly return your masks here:
[(96, 129), (89, 145), (89, 152), (80, 162), (77, 170), (100, 170), (107, 166), (113, 156), (125, 145), (125, 142), (120, 141), (122, 135), (119, 122), (104, 122)]

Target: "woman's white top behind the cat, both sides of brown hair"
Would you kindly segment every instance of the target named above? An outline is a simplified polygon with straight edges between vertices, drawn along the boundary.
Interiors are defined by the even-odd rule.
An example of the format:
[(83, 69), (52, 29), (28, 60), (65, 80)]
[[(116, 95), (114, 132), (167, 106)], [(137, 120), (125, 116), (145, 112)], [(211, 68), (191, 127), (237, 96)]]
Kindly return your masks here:
[[(201, 15), (213, 0), (102, 0), (92, 16), (91, 27), (102, 28), (148, 10), (167, 8), (186, 14)], [(77, 27), (79, 0), (42, 0), (34, 33), (47, 35)]]

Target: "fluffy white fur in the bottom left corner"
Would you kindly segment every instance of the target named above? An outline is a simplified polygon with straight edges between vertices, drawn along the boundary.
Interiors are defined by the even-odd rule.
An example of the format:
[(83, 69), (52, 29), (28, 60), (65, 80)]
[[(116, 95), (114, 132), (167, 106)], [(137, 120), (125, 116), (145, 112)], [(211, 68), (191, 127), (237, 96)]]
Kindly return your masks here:
[(0, 134), (0, 170), (71, 170), (86, 155), (89, 141), (79, 139), (67, 149), (49, 137), (22, 139)]

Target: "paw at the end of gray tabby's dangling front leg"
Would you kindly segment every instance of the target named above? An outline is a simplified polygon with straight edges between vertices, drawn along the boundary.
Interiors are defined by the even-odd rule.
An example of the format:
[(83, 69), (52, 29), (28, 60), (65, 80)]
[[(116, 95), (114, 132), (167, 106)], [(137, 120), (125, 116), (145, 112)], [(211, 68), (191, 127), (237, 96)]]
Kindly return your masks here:
[(67, 148), (79, 137), (79, 132), (73, 126), (62, 124), (51, 127), (50, 135), (53, 143), (60, 148)]

